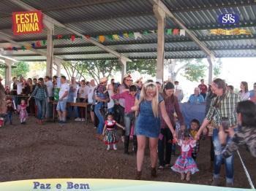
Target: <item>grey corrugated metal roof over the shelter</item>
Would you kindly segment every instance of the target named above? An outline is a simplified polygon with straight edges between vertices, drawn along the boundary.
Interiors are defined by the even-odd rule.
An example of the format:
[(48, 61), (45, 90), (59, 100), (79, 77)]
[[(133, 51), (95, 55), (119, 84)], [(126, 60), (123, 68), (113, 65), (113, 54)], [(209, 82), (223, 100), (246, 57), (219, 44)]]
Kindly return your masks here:
[[(148, 0), (22, 0), (32, 7), (41, 9), (42, 12), (53, 17), (65, 25), (79, 31), (82, 34), (97, 35), (120, 34), (124, 32), (143, 32), (156, 30), (157, 19), (154, 17), (152, 4)], [(256, 2), (227, 1), (227, 0), (162, 0), (164, 4), (178, 17), (182, 23), (190, 28), (203, 44), (206, 44), (217, 57), (228, 56), (256, 56)], [(12, 12), (23, 11), (22, 8), (10, 1), (0, 1), (0, 31), (12, 36)], [(210, 28), (227, 28), (218, 23), (218, 16), (225, 12), (233, 12), (239, 15), (239, 26), (252, 31), (254, 36), (214, 36), (209, 34)], [(166, 28), (176, 28), (170, 17), (166, 18)], [(234, 26), (230, 26), (234, 27)], [(64, 28), (55, 26), (54, 34), (69, 34)], [(26, 34), (12, 36), (12, 39), (33, 43), (37, 40), (46, 39), (47, 31), (42, 34)], [(218, 37), (218, 38), (215, 38)], [(1, 39), (1, 36), (0, 36)], [(97, 40), (97, 39), (96, 39)], [(203, 58), (206, 55), (198, 48), (195, 42), (188, 36), (166, 35), (165, 36), (166, 58)], [(64, 59), (103, 59), (115, 58), (86, 42), (85, 39), (54, 40), (54, 53)], [(103, 43), (117, 52), (123, 52), (129, 58), (154, 58), (157, 55), (157, 34), (142, 35), (141, 38), (119, 37), (105, 39)], [(7, 48), (10, 44), (1, 40), (0, 47)], [(45, 47), (39, 47), (45, 51)], [(19, 50), (18, 52), (5, 51), (9, 55), (15, 55), (16, 59), (35, 60), (36, 54), (30, 51)], [(77, 54), (78, 53), (78, 54)], [(20, 55), (20, 56), (19, 56)], [(27, 56), (23, 56), (27, 55)], [(31, 56), (29, 56), (31, 55)], [(38, 56), (39, 60), (45, 57)]]

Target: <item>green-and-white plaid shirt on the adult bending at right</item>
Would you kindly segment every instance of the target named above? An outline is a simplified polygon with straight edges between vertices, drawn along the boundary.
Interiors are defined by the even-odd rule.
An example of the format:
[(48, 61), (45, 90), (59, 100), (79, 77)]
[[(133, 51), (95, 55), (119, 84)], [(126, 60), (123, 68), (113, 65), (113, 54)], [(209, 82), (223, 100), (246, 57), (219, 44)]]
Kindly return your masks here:
[(237, 125), (236, 106), (241, 98), (236, 93), (227, 92), (222, 95), (224, 98), (217, 96), (212, 99), (211, 106), (206, 114), (206, 119), (214, 122), (214, 128), (219, 127), (222, 117), (228, 118), (229, 126)]

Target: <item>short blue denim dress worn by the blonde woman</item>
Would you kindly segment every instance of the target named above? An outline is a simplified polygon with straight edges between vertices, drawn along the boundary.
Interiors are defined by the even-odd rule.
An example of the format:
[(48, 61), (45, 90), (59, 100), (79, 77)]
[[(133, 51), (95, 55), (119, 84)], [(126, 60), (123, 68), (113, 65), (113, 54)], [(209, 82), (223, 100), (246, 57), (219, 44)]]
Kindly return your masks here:
[[(139, 100), (140, 95), (138, 95), (137, 98)], [(159, 103), (163, 101), (161, 95), (158, 96), (158, 101)], [(139, 115), (135, 123), (136, 135), (158, 138), (161, 128), (160, 121), (159, 117), (154, 117), (151, 101), (142, 101), (140, 103)]]

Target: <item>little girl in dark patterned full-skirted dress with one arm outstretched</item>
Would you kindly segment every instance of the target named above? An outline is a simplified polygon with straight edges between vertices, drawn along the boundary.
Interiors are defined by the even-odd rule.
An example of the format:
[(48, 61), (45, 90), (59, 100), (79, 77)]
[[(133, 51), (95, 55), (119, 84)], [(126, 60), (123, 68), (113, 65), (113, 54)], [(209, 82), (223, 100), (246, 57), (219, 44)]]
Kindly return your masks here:
[(113, 114), (107, 114), (107, 120), (105, 120), (105, 125), (103, 129), (103, 141), (108, 145), (107, 150), (113, 145), (113, 149), (116, 150), (116, 144), (119, 140), (118, 135), (116, 133), (116, 125), (119, 128), (125, 129), (123, 126), (118, 124), (115, 120), (113, 120)]

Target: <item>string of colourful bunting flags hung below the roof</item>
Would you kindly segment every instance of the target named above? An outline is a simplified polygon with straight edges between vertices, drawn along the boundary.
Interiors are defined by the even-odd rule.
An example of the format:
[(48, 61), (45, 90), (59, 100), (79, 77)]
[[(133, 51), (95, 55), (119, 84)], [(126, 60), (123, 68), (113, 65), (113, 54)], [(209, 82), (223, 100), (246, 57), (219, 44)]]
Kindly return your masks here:
[[(86, 39), (94, 38), (97, 39), (99, 42), (103, 43), (105, 42), (106, 39), (109, 40), (116, 40), (118, 41), (120, 38), (135, 38), (139, 39), (142, 38), (143, 35), (148, 35), (148, 34), (155, 34), (157, 33), (157, 30), (153, 31), (142, 31), (142, 32), (124, 32), (124, 33), (119, 33), (119, 34), (109, 34), (109, 35), (98, 35), (98, 36), (90, 36), (90, 35), (85, 35)], [(165, 34), (167, 35), (179, 35), (179, 36), (185, 36), (185, 30), (184, 29), (178, 29), (178, 28), (167, 28), (165, 29)], [(77, 36), (74, 34), (71, 35), (62, 35), (58, 34), (56, 36), (53, 36), (53, 40), (59, 40), (59, 39), (69, 39), (72, 42), (75, 41), (75, 39), (83, 39), (83, 36)], [(37, 47), (42, 47), (46, 46), (47, 42), (46, 40), (42, 41), (37, 41), (37, 42), (32, 42), (31, 44), (26, 44), (21, 46), (21, 50), (31, 50), (31, 48), (37, 48)], [(14, 50), (18, 51), (18, 47), (7, 47), (7, 50)]]

